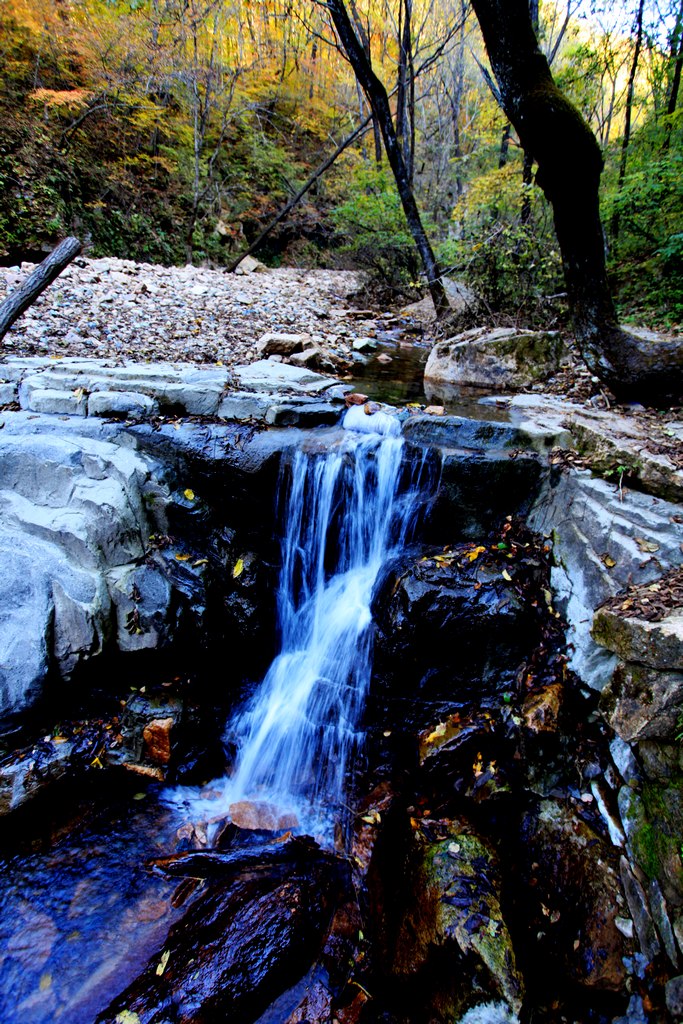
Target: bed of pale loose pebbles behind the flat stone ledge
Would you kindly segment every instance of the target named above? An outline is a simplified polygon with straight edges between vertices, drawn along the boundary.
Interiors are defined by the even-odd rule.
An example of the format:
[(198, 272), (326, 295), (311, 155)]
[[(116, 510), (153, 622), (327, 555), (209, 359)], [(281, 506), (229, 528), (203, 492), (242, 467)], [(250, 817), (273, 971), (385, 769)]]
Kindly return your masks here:
[[(0, 268), (0, 301), (33, 269)], [(259, 358), (256, 342), (268, 332), (308, 334), (322, 347), (346, 349), (358, 327), (348, 313), (351, 296), (361, 284), (351, 271), (228, 274), (79, 258), (19, 317), (3, 347), (16, 355), (226, 367)]]

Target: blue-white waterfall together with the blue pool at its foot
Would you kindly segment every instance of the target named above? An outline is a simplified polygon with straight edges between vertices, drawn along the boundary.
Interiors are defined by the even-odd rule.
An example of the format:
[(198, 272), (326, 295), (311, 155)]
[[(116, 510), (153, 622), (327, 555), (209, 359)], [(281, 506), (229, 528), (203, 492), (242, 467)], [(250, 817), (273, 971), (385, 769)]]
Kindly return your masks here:
[(177, 882), (147, 864), (174, 850), (187, 810), (197, 820), (267, 802), (334, 840), (360, 744), (373, 594), (433, 482), (395, 419), (351, 410), (347, 422), (283, 469), (280, 653), (228, 726), (238, 756), (211, 786), (218, 799), (185, 787), (158, 801), (153, 786), (140, 802), (103, 801), (73, 829), (55, 825), (36, 849), (0, 849), (0, 1021), (91, 1024), (137, 975), (182, 912)]

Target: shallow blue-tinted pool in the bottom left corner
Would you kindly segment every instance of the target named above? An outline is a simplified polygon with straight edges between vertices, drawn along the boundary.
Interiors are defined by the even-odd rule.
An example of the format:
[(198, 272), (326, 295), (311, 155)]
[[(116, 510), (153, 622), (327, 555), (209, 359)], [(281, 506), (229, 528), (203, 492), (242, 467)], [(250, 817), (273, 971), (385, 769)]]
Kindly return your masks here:
[(92, 1024), (132, 981), (180, 912), (146, 867), (177, 826), (150, 792), (0, 856), (0, 1021)]

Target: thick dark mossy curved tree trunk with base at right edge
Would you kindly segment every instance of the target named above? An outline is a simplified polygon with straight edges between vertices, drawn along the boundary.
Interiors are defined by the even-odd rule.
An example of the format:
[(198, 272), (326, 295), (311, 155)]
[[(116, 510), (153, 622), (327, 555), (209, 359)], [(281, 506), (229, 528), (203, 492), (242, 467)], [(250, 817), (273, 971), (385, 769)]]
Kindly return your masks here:
[(577, 342), (592, 373), (618, 397), (664, 402), (683, 394), (683, 344), (620, 328), (605, 269), (598, 190), (602, 155), (553, 81), (528, 0), (472, 0), (503, 108), (538, 164), (553, 207)]

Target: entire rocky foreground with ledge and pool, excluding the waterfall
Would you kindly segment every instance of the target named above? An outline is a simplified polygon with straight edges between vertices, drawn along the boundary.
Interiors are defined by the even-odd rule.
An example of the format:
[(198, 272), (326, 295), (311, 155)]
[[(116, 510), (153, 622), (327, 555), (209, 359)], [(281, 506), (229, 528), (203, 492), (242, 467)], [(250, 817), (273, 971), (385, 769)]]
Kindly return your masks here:
[(224, 721), (273, 654), (281, 466), (334, 443), (348, 385), (3, 374), (4, 1018), (680, 1016), (675, 468), (664, 497), (594, 475), (566, 406), (388, 411), (439, 483), (375, 593), (335, 845), (267, 795), (211, 824), (183, 793), (229, 765)]

